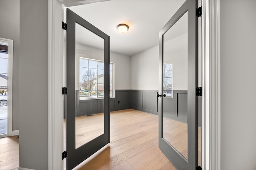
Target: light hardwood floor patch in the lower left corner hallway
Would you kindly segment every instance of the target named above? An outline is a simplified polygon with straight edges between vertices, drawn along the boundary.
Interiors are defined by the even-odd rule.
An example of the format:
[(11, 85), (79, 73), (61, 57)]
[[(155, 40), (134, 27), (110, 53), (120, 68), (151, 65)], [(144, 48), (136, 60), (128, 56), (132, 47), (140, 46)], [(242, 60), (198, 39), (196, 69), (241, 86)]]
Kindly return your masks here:
[(18, 170), (18, 136), (0, 138), (0, 170)]

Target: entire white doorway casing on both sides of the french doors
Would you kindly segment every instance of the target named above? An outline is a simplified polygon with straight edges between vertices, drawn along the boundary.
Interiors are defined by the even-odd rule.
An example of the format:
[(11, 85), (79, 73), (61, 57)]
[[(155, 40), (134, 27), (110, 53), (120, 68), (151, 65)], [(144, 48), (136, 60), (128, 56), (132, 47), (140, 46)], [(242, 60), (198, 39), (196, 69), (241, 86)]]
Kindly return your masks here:
[[(48, 0), (48, 169), (63, 169), (63, 8), (107, 0)], [(202, 168), (220, 170), (220, 8), (202, 0)]]

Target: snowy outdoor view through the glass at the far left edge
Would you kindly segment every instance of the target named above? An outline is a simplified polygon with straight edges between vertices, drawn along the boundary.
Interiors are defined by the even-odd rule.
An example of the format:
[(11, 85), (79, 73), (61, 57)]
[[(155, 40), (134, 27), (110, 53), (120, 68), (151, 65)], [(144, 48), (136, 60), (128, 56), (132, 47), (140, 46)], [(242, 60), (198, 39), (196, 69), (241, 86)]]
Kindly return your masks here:
[(8, 44), (0, 42), (0, 135), (7, 133)]

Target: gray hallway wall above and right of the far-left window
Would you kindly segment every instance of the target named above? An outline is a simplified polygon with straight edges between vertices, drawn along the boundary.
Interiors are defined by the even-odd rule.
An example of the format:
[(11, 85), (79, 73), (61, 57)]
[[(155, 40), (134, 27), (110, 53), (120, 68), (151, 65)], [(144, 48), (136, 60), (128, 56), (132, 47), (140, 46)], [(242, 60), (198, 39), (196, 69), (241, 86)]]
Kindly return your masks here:
[(0, 0), (0, 37), (13, 40), (12, 130), (19, 129), (20, 0)]

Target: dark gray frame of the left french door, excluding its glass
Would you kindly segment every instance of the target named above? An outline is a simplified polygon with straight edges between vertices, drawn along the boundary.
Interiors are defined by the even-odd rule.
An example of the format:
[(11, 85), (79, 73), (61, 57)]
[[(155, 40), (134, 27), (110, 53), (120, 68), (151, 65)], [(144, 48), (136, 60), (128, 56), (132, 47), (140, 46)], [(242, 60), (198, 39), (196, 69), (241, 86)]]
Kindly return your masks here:
[[(66, 169), (71, 170), (99, 149), (110, 143), (110, 37), (84, 20), (70, 9), (66, 9)], [(76, 116), (79, 96), (76, 92), (76, 25), (94, 33), (104, 41), (104, 132), (84, 145), (76, 147)], [(80, 37), (82, 35), (79, 35)], [(86, 37), (83, 37), (86, 38)], [(79, 108), (78, 108), (79, 111)]]

